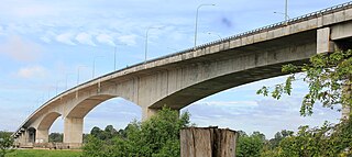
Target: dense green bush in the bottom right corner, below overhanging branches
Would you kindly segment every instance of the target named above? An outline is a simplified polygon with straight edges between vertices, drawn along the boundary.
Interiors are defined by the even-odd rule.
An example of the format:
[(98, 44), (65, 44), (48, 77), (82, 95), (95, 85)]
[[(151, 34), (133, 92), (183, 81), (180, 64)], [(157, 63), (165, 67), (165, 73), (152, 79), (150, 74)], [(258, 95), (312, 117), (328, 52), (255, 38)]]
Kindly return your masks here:
[(352, 121), (321, 127), (301, 126), (296, 135), (285, 137), (278, 147), (280, 157), (352, 156)]

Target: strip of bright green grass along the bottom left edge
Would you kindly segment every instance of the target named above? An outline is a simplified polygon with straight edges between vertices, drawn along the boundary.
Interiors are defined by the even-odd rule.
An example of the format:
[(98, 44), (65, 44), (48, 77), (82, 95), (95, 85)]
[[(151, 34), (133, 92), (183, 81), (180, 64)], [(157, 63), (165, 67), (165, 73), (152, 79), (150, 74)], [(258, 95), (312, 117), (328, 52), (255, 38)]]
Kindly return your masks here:
[(16, 149), (6, 157), (80, 157), (80, 150)]

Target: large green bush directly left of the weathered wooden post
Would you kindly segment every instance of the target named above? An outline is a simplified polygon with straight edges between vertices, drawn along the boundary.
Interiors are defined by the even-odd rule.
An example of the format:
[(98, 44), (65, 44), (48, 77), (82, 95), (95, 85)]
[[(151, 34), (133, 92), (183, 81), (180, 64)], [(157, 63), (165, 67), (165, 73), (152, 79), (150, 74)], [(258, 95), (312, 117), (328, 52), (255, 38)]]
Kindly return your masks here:
[[(189, 113), (178, 115), (168, 108), (144, 122), (133, 121), (124, 130), (94, 128), (84, 147), (87, 157), (178, 157), (179, 131), (189, 125)], [(101, 136), (110, 133), (111, 136)], [(103, 139), (102, 139), (103, 138)]]

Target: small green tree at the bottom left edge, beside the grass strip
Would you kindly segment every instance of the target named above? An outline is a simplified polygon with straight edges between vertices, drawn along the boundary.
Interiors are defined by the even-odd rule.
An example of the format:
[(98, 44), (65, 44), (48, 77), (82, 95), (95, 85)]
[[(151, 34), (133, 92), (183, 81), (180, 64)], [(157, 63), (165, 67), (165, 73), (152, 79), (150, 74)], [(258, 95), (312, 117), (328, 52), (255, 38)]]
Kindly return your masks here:
[(0, 131), (0, 157), (4, 157), (7, 154), (14, 150), (11, 133)]

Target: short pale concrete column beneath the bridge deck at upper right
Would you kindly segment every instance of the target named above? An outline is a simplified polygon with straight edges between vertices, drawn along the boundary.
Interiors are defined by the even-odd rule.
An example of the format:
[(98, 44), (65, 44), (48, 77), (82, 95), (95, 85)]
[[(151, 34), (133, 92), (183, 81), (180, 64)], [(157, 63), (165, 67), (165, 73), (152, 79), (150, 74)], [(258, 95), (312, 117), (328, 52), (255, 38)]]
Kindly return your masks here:
[(334, 52), (334, 44), (330, 40), (330, 27), (317, 30), (317, 54)]

